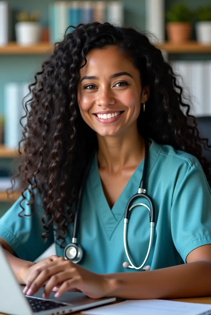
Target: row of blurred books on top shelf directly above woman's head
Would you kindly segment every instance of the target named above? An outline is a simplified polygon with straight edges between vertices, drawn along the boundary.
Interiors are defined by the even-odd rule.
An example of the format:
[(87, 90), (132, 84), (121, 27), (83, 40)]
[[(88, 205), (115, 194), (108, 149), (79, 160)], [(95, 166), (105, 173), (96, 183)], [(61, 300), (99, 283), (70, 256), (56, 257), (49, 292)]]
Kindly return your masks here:
[[(95, 21), (123, 26), (122, 1), (57, 1), (49, 6), (50, 41), (61, 41), (68, 26)], [(68, 33), (73, 30), (70, 27)]]

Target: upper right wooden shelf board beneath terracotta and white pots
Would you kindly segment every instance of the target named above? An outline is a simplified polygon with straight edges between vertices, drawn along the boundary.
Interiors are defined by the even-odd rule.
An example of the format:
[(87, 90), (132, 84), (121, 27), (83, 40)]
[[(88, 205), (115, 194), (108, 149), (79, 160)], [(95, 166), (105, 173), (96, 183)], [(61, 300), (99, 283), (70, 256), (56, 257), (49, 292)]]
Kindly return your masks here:
[(183, 44), (173, 44), (165, 42), (157, 45), (158, 48), (169, 54), (206, 54), (211, 53), (211, 43), (202, 45), (195, 41), (190, 41)]

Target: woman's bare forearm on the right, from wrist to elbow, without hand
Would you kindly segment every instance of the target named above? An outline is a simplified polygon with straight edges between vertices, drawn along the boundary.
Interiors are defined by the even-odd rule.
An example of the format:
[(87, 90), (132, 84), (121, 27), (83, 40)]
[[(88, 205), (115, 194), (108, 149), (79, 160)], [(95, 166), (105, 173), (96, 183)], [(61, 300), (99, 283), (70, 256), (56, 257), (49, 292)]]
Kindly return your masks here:
[(110, 296), (124, 299), (165, 299), (211, 295), (211, 262), (207, 261), (153, 271), (122, 272), (105, 276), (111, 279)]

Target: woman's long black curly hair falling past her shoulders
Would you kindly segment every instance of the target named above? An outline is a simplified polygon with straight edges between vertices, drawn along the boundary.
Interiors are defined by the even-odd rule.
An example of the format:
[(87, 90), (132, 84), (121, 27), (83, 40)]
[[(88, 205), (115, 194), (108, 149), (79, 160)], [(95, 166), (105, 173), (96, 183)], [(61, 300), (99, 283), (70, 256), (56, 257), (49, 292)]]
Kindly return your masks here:
[[(160, 49), (133, 28), (108, 22), (73, 28), (54, 45), (53, 54), (42, 63), (42, 70), (35, 73), (35, 81), (29, 85), (31, 98), (24, 103), (26, 114), (20, 119), (23, 132), (19, 155), (22, 151), (24, 154), (19, 172), (12, 179), (13, 190), (15, 178), (21, 178), (23, 198), (19, 216), (24, 216), (21, 205), (24, 191), (29, 190), (28, 204), (33, 207), (36, 189), (44, 209), (42, 224), (46, 232), (42, 236), (47, 239), (53, 223), (60, 246), (67, 236), (68, 224), (73, 221), (71, 208), (78, 196), (84, 167), (97, 146), (96, 133), (82, 119), (77, 102), (79, 70), (86, 64), (91, 49), (116, 45), (133, 63), (140, 72), (142, 87), (150, 86), (144, 115), (138, 117), (139, 134), (191, 153), (211, 182), (211, 163), (202, 156), (202, 147), (211, 146), (207, 139), (199, 138), (195, 117), (189, 115), (190, 103), (184, 103), (176, 74)], [(25, 117), (27, 123), (23, 125)]]

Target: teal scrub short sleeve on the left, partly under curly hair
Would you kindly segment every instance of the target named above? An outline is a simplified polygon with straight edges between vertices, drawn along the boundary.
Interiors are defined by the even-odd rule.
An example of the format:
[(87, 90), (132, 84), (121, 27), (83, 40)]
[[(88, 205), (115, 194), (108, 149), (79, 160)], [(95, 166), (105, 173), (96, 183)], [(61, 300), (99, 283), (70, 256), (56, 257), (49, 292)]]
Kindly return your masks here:
[(33, 214), (24, 218), (18, 216), (22, 210), (19, 203), (23, 198), (20, 196), (0, 218), (0, 237), (12, 247), (20, 259), (34, 261), (53, 243), (53, 231), (49, 231), (48, 240), (44, 243), (45, 239), (41, 234), (46, 230), (41, 221), (44, 215), (41, 199), (35, 194), (33, 204), (35, 210), (33, 210), (30, 205), (27, 205), (30, 201), (29, 190), (24, 192), (24, 196), (26, 199), (21, 202), (24, 212), (21, 215)]

